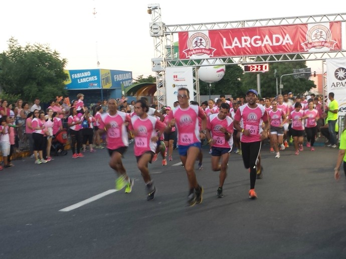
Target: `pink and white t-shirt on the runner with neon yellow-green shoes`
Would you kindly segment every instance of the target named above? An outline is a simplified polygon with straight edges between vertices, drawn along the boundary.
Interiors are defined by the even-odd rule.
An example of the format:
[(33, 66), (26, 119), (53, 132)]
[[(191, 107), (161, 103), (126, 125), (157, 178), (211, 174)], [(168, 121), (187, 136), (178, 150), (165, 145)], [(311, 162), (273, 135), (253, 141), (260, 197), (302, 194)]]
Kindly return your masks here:
[(117, 111), (115, 115), (110, 115), (108, 112), (102, 113), (99, 128), (103, 130), (106, 125), (110, 125), (106, 134), (108, 149), (116, 150), (120, 147), (128, 147), (125, 121), (130, 123), (130, 118), (125, 112)]

